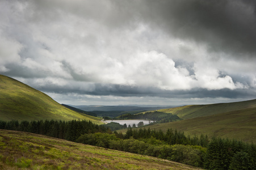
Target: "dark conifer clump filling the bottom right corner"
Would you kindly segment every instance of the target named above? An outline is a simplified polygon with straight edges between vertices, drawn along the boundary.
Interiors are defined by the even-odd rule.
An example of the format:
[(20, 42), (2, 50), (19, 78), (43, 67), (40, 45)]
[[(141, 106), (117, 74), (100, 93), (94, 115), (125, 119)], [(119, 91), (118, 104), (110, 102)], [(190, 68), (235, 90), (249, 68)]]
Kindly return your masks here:
[(207, 146), (206, 169), (256, 169), (256, 145), (212, 138)]

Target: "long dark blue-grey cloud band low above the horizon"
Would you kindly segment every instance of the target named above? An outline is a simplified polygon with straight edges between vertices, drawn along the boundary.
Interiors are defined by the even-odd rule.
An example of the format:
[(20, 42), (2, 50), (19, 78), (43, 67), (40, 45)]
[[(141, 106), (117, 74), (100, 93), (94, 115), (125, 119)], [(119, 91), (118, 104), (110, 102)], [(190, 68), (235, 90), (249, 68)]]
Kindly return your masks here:
[[(124, 86), (120, 84), (90, 84), (91, 88), (81, 89), (78, 87), (57, 87), (54, 84), (48, 85), (47, 88), (39, 87), (37, 89), (50, 93), (70, 94), (77, 93), (80, 95), (93, 95), (93, 96), (120, 96), (120, 97), (162, 97), (162, 98), (177, 98), (177, 99), (190, 99), (205, 97), (223, 97), (229, 99), (237, 99), (246, 96), (246, 99), (253, 99), (256, 91), (251, 90), (205, 90), (203, 88), (194, 88), (191, 90), (161, 90), (157, 87), (138, 87), (138, 86)], [(93, 90), (92, 90), (93, 89)]]

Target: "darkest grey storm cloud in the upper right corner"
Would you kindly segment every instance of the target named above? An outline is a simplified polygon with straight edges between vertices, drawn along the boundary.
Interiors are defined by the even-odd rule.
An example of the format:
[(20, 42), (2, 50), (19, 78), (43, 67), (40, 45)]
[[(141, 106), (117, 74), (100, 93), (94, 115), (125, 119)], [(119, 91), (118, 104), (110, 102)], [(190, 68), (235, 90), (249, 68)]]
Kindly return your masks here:
[(180, 39), (242, 57), (256, 52), (255, 1), (145, 1), (146, 18)]

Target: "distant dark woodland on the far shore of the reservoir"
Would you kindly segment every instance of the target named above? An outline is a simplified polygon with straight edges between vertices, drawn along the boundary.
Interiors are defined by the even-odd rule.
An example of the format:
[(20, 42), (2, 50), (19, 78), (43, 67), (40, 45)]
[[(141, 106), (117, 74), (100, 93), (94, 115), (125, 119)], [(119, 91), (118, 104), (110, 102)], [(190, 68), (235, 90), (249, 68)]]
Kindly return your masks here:
[(139, 114), (122, 114), (120, 116), (115, 117), (116, 120), (128, 120), (128, 119), (148, 119), (152, 121), (156, 121), (159, 123), (165, 122), (173, 122), (177, 121), (180, 118), (176, 114), (165, 113), (165, 112), (146, 112), (146, 113), (139, 113)]

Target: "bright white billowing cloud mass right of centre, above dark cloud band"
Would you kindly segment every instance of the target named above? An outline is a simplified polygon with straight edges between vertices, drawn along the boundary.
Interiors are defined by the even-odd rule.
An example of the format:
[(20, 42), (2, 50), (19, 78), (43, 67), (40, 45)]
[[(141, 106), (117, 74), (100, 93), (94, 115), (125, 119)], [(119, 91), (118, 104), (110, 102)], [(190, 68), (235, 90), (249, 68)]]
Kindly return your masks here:
[(187, 76), (186, 68), (175, 67), (175, 62), (163, 53), (139, 53), (127, 63), (126, 69), (131, 69), (127, 78), (135, 84), (166, 90), (190, 88), (191, 78)]

